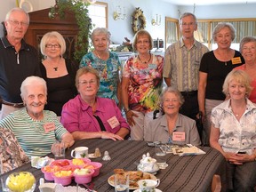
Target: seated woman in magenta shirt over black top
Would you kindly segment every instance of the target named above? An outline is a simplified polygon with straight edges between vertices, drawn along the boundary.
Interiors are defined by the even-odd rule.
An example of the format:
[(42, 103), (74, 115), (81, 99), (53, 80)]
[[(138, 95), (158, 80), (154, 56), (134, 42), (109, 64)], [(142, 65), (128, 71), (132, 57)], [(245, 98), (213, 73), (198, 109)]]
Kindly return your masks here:
[(76, 88), (79, 94), (63, 106), (60, 121), (75, 140), (124, 140), (130, 132), (130, 127), (115, 100), (96, 96), (99, 86), (100, 77), (96, 69), (78, 69)]

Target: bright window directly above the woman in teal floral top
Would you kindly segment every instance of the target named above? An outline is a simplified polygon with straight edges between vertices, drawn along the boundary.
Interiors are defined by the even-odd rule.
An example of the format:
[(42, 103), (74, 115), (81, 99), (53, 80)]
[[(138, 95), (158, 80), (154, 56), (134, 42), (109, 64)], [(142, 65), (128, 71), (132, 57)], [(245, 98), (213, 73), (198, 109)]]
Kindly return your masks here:
[(92, 19), (92, 28), (108, 28), (108, 4), (96, 2), (88, 6), (89, 17)]

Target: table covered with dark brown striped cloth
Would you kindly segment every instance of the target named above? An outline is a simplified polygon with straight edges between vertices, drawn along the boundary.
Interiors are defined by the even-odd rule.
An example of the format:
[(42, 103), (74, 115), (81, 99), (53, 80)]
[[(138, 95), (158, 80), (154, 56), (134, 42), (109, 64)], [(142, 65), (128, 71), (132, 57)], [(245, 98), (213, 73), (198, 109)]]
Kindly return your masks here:
[[(102, 164), (100, 174), (92, 178), (93, 189), (98, 192), (115, 191), (115, 188), (108, 183), (108, 178), (114, 174), (115, 169), (137, 171), (137, 166), (143, 155), (148, 153), (153, 158), (155, 156), (155, 148), (148, 146), (148, 143), (143, 140), (86, 139), (76, 140), (71, 148), (67, 148), (65, 158), (72, 159), (70, 155), (72, 149), (82, 146), (89, 148), (89, 154), (94, 153), (95, 148), (99, 148), (102, 156), (106, 151), (110, 156), (108, 161), (103, 160), (102, 156), (91, 159)], [(167, 154), (166, 163), (168, 166), (156, 172), (155, 175), (160, 180), (157, 188), (163, 192), (208, 192), (211, 191), (213, 175), (218, 174), (221, 179), (221, 191), (224, 191), (226, 186), (225, 158), (214, 148), (198, 148), (202, 149), (205, 154), (193, 156)], [(52, 154), (47, 156), (53, 157)], [(0, 178), (6, 178), (12, 172), (22, 171), (33, 173), (36, 178), (35, 191), (39, 191), (39, 180), (44, 178), (44, 173), (40, 169), (32, 167), (30, 163), (23, 164), (11, 172), (6, 172)], [(76, 183), (73, 181), (71, 185), (76, 185)]]

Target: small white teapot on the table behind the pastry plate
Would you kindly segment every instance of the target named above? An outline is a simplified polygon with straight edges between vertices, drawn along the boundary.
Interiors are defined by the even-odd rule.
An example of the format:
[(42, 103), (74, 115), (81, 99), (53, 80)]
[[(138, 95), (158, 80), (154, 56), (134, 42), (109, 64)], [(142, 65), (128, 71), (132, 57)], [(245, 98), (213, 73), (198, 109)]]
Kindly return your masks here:
[(140, 164), (138, 165), (137, 169), (141, 172), (156, 174), (159, 167), (156, 164), (156, 159), (152, 158), (149, 153), (147, 153), (147, 156), (144, 154), (142, 159), (140, 159)]

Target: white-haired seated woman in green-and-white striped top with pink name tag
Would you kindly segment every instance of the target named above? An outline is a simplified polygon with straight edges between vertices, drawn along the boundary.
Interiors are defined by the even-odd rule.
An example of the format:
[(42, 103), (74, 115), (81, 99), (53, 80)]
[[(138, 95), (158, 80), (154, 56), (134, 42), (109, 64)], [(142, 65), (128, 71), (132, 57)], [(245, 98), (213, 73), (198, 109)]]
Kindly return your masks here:
[(43, 78), (28, 76), (20, 86), (21, 98), (26, 108), (15, 111), (0, 121), (0, 126), (10, 129), (27, 156), (45, 156), (51, 153), (55, 140), (74, 144), (72, 135), (60, 124), (55, 113), (44, 110), (47, 87)]

